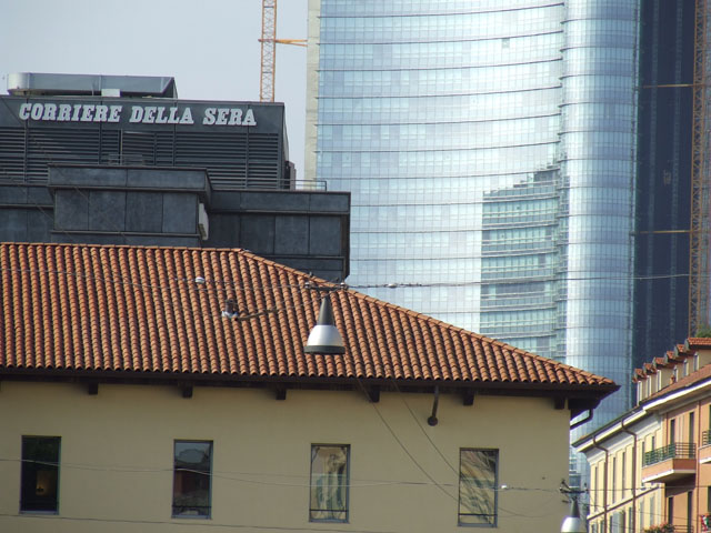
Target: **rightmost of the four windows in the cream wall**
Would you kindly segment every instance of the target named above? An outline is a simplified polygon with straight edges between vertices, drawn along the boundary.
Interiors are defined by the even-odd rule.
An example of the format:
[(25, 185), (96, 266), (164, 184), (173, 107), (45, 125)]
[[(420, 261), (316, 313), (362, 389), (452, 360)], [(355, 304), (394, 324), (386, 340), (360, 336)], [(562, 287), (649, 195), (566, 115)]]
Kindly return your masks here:
[(459, 525), (497, 526), (499, 450), (459, 451)]

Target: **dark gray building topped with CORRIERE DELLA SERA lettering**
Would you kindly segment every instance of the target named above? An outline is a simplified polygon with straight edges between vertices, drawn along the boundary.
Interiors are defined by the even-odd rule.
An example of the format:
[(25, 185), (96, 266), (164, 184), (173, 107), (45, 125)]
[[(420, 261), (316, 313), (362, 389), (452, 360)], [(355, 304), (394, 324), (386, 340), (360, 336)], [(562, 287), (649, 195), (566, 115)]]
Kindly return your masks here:
[(0, 240), (244, 248), (349, 271), (350, 194), (297, 183), (281, 103), (179, 100), (172, 78), (13, 74)]

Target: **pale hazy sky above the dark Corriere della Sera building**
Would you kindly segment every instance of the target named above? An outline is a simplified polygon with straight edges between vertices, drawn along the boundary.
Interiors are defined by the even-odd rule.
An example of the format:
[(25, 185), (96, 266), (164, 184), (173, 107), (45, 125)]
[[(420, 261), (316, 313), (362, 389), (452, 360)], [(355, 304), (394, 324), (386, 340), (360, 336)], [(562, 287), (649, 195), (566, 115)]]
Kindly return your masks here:
[[(12, 72), (172, 76), (191, 100), (259, 100), (262, 0), (0, 0), (0, 94)], [(277, 37), (307, 38), (307, 0)], [(278, 44), (276, 100), (303, 179), (306, 48)]]

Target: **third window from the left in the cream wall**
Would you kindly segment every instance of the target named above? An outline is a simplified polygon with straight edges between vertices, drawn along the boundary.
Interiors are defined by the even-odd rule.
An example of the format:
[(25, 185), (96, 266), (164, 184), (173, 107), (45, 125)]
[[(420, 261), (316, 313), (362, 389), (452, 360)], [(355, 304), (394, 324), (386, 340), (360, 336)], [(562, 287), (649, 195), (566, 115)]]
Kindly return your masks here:
[(311, 445), (309, 521), (348, 522), (349, 461), (349, 445)]

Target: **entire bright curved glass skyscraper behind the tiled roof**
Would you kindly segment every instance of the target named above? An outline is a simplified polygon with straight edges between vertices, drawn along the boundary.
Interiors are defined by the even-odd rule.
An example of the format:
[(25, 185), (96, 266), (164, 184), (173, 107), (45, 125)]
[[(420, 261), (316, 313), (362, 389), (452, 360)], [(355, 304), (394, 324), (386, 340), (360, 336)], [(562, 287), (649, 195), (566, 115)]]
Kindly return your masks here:
[(307, 177), (351, 285), (629, 406), (639, 0), (310, 0)]

